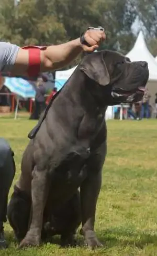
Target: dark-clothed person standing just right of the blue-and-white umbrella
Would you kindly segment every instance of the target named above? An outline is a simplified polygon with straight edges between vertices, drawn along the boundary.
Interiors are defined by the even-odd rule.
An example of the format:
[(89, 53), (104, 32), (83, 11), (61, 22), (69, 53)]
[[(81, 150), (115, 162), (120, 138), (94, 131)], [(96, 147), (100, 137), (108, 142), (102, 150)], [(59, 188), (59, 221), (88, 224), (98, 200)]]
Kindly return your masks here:
[(35, 97), (35, 119), (37, 120), (39, 119), (41, 112), (46, 108), (44, 94), (46, 94), (46, 88), (44, 87), (43, 79), (39, 77), (36, 82)]

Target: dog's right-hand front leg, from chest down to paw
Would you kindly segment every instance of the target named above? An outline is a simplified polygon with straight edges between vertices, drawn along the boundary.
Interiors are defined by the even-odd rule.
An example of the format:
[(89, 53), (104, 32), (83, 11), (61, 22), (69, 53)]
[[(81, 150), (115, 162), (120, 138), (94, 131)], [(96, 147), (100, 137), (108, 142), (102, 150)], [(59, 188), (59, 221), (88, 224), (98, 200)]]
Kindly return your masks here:
[(104, 141), (97, 150), (89, 157), (87, 163), (87, 178), (81, 185), (81, 213), (82, 229), (85, 243), (94, 249), (102, 244), (98, 241), (95, 231), (95, 213), (97, 198), (102, 185), (102, 168), (106, 156), (106, 141)]

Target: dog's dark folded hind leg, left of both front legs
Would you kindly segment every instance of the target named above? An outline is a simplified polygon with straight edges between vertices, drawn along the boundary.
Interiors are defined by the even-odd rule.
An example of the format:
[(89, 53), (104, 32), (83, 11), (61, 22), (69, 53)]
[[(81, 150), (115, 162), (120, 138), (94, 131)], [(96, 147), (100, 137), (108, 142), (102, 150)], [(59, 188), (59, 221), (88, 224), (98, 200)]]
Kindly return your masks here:
[(24, 239), (27, 233), (30, 208), (31, 198), (15, 185), (14, 192), (8, 204), (7, 218), (18, 242)]

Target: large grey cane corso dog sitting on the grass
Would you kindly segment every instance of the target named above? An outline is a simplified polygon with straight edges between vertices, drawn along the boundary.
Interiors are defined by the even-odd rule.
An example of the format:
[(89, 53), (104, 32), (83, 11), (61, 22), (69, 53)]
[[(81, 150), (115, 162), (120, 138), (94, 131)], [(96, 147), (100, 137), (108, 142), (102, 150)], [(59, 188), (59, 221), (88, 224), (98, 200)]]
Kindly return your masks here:
[[(18, 223), (15, 214), (20, 220), (23, 209), (27, 208), (29, 227), (24, 232), (26, 236), (23, 233), (25, 237), (20, 247), (38, 245), (47, 223), (53, 229), (55, 221), (51, 223), (47, 217), (53, 214), (53, 209), (54, 215), (55, 209), (61, 212), (62, 207), (73, 212), (73, 208), (66, 204), (75, 201), (73, 196), (79, 187), (81, 234), (88, 246), (101, 245), (94, 222), (106, 156), (105, 111), (108, 105), (140, 101), (148, 77), (147, 62), (130, 62), (118, 52), (99, 51), (82, 59), (30, 133), (32, 140), (25, 150), (16, 184), (19, 194), (25, 193), (29, 197), (29, 207), (24, 203), (18, 208), (18, 193), (13, 194), (8, 207), (8, 219), (15, 232), (16, 229), (20, 232), (23, 222)], [(73, 216), (77, 221), (72, 220), (73, 231), (70, 229), (75, 232), (79, 218)], [(63, 215), (62, 218), (66, 221)], [(66, 229), (64, 238), (69, 236)]]

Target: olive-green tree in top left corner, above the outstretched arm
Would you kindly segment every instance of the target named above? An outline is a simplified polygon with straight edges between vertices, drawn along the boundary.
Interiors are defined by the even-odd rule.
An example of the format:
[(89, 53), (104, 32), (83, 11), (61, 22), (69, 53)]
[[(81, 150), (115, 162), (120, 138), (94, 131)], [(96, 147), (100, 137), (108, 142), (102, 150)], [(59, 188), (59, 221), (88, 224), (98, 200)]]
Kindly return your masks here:
[(14, 0), (0, 3), (1, 40), (12, 41), (20, 46), (59, 44), (66, 40), (64, 25), (47, 10), (47, 4), (41, 0)]

